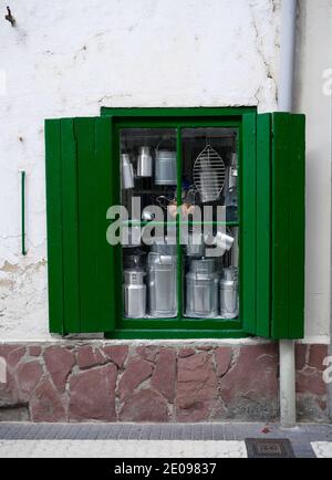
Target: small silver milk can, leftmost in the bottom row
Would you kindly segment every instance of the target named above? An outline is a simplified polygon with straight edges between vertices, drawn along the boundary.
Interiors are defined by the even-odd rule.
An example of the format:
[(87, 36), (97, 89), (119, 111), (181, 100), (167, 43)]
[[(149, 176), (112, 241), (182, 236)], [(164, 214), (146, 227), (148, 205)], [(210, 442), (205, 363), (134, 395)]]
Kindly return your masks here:
[(146, 314), (146, 285), (143, 270), (124, 271), (124, 314), (129, 319), (142, 319)]

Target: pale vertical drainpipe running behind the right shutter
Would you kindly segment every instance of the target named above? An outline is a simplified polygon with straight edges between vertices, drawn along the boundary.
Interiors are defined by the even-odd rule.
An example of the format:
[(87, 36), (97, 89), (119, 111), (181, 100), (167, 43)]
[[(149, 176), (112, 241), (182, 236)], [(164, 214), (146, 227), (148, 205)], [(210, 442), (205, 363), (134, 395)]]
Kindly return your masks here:
[[(282, 0), (281, 65), (279, 111), (291, 112), (294, 83), (297, 0)], [(295, 343), (279, 342), (280, 362), (280, 422), (283, 428), (297, 425), (295, 409)]]

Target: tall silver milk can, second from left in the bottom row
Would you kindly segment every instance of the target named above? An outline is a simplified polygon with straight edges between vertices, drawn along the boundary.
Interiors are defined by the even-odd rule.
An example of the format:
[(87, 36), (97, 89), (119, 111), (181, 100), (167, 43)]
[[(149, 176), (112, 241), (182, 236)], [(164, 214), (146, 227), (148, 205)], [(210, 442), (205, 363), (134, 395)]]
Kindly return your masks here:
[[(157, 250), (157, 247), (154, 247), (154, 249)], [(157, 319), (176, 316), (176, 255), (163, 254), (157, 251), (148, 253), (147, 285), (148, 313), (151, 316)]]

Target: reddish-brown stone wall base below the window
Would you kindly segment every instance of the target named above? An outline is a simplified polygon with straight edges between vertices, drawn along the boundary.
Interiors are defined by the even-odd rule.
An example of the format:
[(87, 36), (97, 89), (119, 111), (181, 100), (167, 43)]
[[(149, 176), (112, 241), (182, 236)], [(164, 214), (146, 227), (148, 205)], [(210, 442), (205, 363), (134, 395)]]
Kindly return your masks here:
[[(300, 421), (326, 421), (325, 345), (297, 346)], [(2, 357), (2, 359), (1, 359)], [(4, 359), (4, 361), (3, 361)], [(278, 344), (2, 344), (0, 420), (278, 421)], [(2, 368), (3, 369), (3, 368)]]

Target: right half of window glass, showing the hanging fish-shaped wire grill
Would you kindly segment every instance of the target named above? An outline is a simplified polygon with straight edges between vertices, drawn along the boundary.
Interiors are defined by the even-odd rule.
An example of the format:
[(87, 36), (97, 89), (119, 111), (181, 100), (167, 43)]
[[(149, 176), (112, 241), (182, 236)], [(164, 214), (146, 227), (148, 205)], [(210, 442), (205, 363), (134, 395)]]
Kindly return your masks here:
[(183, 131), (185, 316), (239, 314), (238, 131)]

